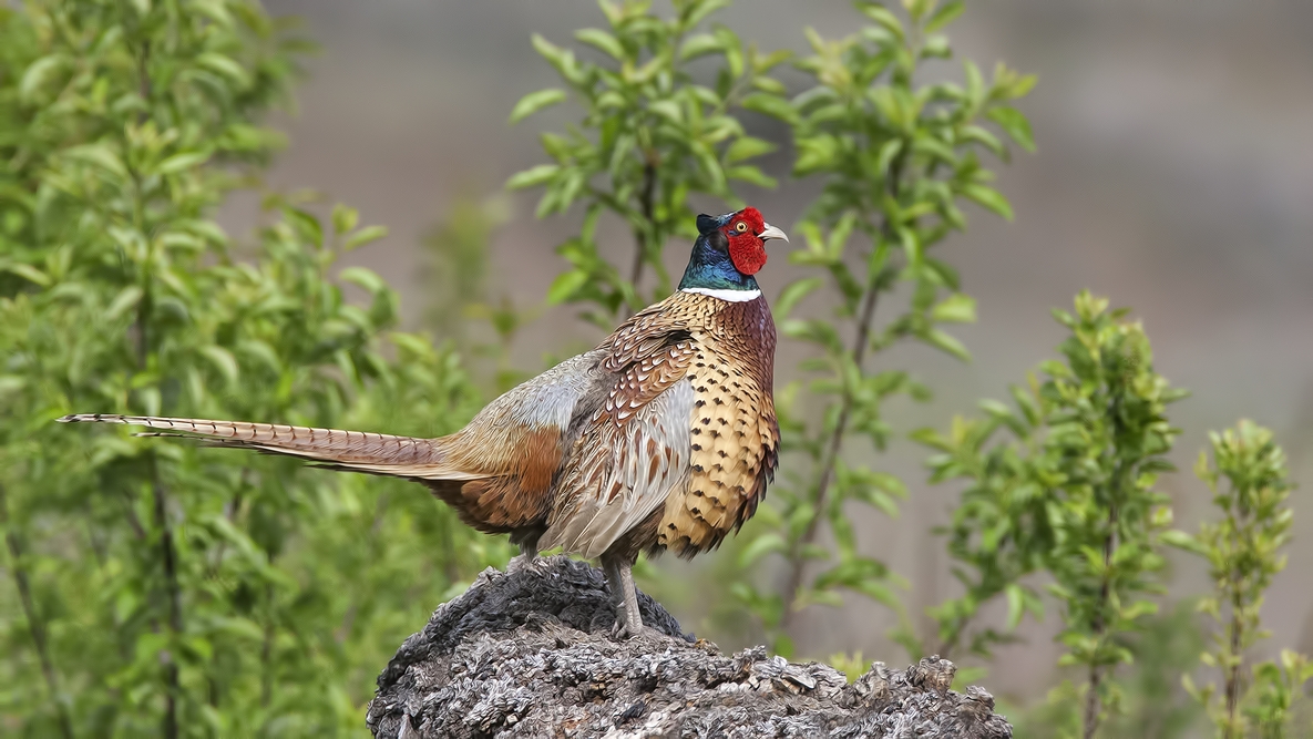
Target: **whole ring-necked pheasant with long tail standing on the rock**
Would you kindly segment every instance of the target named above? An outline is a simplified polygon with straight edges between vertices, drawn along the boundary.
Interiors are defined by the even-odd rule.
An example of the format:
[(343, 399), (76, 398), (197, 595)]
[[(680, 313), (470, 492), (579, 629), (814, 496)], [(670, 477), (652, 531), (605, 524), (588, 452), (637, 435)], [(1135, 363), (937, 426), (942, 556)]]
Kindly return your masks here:
[(440, 438), (156, 416), (79, 413), (63, 423), (140, 425), (420, 482), (461, 520), (509, 534), (521, 557), (562, 547), (600, 559), (616, 634), (642, 630), (630, 572), (641, 551), (693, 557), (756, 511), (773, 478), (775, 323), (754, 274), (788, 240), (747, 207), (697, 217), (679, 290), (596, 349), (488, 403)]

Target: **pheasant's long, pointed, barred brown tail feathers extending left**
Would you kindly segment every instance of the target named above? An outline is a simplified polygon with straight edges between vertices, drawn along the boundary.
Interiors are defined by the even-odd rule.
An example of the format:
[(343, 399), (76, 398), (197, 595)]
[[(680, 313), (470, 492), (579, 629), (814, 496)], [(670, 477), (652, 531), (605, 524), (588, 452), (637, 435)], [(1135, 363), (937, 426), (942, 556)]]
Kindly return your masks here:
[(140, 425), (155, 432), (138, 436), (196, 438), (215, 446), (255, 449), (323, 462), (332, 467), (421, 479), (461, 479), (467, 475), (441, 463), (435, 440), (340, 431), (331, 428), (167, 419), (160, 416), (121, 416), (116, 413), (75, 413), (59, 419), (63, 424), (100, 423)]

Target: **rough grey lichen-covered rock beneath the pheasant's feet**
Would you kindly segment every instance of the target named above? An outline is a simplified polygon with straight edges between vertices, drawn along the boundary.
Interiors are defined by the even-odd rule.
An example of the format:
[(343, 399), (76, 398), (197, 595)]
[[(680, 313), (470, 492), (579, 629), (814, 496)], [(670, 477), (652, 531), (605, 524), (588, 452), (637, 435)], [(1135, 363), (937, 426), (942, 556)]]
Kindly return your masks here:
[(411, 635), (378, 676), (368, 723), (381, 739), (474, 736), (1012, 735), (979, 688), (948, 689), (956, 668), (876, 663), (848, 685), (832, 667), (725, 656), (639, 593), (642, 635), (611, 638), (599, 570), (562, 557), (487, 570)]

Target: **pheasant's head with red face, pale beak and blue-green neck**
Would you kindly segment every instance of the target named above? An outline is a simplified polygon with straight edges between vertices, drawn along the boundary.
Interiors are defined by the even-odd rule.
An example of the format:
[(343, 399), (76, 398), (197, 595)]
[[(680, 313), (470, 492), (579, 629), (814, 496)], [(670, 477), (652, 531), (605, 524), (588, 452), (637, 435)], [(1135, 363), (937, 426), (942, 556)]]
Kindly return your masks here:
[(765, 264), (765, 242), (789, 240), (784, 231), (767, 223), (755, 207), (725, 215), (699, 215), (697, 231), (693, 253), (684, 269), (684, 278), (679, 282), (679, 289), (688, 293), (760, 294), (752, 276)]

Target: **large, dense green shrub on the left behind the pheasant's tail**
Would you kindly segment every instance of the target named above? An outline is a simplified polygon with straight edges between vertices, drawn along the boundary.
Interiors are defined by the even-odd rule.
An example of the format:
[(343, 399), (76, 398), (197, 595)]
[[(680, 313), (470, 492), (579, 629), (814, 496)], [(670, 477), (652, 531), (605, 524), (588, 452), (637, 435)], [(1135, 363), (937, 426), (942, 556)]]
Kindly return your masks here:
[[(66, 412), (437, 434), (478, 395), (332, 278), (382, 235), (270, 196), (210, 214), (280, 137), (303, 43), (244, 0), (0, 9), (0, 722), (33, 736), (358, 731), (452, 585), (502, 562), (420, 488), (58, 427)], [(365, 305), (343, 299), (351, 282)]]

